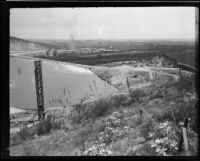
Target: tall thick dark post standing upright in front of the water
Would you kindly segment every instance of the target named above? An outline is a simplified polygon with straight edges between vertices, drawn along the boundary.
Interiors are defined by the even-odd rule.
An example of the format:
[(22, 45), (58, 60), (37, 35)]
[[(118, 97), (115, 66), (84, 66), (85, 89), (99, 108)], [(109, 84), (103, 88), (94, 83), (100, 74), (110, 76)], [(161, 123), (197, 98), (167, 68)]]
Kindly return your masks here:
[(42, 80), (42, 64), (41, 60), (35, 60), (35, 87), (36, 87), (36, 98), (37, 98), (37, 109), (38, 109), (38, 120), (44, 120), (45, 109), (44, 109), (44, 93), (43, 93), (43, 80)]

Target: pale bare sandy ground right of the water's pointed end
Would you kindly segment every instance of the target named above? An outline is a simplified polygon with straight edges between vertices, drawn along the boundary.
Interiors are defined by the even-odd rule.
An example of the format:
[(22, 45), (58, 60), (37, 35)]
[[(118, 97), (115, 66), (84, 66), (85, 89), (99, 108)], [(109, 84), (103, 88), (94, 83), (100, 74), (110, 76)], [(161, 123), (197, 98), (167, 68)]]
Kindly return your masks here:
[(133, 67), (121, 65), (115, 67), (95, 67), (91, 69), (101, 79), (115, 86), (120, 92), (127, 92), (129, 88), (136, 89), (153, 83), (163, 84), (178, 81), (178, 68)]

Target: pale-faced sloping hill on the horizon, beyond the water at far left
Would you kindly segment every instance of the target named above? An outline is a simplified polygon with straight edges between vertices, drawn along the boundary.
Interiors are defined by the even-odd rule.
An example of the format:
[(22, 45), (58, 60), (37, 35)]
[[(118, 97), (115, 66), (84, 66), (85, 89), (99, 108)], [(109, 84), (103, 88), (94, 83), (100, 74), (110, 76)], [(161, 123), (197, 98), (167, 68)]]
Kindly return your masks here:
[(41, 51), (59, 48), (60, 47), (52, 44), (45, 44), (10, 36), (10, 51)]

